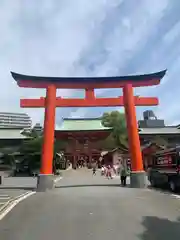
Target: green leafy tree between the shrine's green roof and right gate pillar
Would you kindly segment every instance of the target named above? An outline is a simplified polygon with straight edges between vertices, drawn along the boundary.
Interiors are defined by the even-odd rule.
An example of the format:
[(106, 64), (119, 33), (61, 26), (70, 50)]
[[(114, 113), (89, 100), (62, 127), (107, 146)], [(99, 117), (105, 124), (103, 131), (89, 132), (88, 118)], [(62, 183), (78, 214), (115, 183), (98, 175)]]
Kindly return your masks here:
[(112, 128), (112, 137), (116, 147), (122, 144), (128, 146), (127, 128), (125, 114), (119, 111), (104, 113), (102, 116), (102, 125)]

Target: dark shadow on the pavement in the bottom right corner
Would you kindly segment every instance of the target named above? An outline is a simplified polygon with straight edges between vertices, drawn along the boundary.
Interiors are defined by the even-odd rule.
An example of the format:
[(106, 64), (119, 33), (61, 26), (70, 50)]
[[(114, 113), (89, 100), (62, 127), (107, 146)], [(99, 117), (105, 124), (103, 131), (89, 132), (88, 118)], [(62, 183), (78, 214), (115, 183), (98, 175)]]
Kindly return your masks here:
[(142, 240), (179, 240), (180, 239), (180, 218), (177, 221), (170, 221), (165, 218), (146, 216), (142, 225), (145, 228), (143, 234), (139, 235)]

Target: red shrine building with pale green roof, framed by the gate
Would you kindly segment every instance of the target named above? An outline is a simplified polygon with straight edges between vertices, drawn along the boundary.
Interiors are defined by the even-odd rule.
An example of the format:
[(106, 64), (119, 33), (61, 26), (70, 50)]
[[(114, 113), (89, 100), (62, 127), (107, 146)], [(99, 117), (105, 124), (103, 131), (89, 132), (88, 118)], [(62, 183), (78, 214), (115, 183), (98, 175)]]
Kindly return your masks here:
[(101, 124), (100, 118), (64, 118), (61, 127), (55, 130), (55, 138), (68, 141), (64, 154), (73, 168), (80, 161), (90, 167), (93, 161), (99, 161), (103, 151), (98, 141), (106, 139), (111, 130)]

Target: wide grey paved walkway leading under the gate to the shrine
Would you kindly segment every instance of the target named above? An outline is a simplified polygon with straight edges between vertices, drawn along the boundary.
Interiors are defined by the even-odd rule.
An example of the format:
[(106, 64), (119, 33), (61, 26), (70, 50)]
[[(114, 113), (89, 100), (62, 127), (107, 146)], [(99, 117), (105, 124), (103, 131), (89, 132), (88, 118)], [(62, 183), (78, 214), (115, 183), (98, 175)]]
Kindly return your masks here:
[(48, 193), (17, 205), (0, 222), (3, 240), (179, 240), (180, 200), (118, 179), (68, 171)]

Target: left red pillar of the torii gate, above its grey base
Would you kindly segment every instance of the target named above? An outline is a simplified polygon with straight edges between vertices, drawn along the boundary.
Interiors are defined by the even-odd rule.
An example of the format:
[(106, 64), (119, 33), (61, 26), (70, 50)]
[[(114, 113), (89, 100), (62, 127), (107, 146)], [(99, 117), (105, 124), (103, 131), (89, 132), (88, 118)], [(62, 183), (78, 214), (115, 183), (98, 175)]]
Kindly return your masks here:
[(44, 137), (42, 146), (41, 174), (50, 175), (53, 173), (54, 154), (54, 125), (56, 111), (56, 87), (49, 85), (46, 89)]

